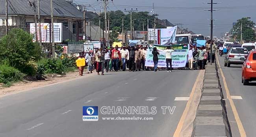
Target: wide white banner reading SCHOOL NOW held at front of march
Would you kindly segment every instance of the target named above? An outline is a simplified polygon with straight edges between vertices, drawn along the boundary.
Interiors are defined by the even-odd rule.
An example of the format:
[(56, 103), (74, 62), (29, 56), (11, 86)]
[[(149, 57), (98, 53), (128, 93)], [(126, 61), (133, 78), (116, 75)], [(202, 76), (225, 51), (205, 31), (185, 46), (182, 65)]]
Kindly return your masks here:
[[(189, 50), (188, 45), (168, 45), (174, 49), (172, 52), (172, 67), (173, 68), (180, 68), (185, 67), (187, 63), (187, 54)], [(158, 55), (158, 67), (166, 67), (166, 60), (165, 60), (165, 49), (167, 49), (166, 45), (150, 45), (148, 46), (148, 53), (146, 58), (145, 66), (147, 67), (154, 67), (153, 61), (153, 48), (156, 47), (160, 53)]]

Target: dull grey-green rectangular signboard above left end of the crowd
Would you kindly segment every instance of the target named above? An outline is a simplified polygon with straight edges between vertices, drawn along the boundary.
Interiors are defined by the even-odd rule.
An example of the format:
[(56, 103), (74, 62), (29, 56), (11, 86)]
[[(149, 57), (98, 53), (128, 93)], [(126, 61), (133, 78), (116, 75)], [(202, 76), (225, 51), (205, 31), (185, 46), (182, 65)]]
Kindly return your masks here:
[(79, 53), (79, 52), (83, 52), (83, 41), (69, 41), (68, 53)]

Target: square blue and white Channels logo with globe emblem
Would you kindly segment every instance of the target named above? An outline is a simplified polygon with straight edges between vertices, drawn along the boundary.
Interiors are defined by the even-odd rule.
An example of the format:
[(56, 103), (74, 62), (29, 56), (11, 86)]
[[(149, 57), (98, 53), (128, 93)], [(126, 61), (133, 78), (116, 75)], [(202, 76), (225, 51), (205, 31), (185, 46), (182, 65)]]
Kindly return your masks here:
[(83, 121), (98, 121), (98, 106), (83, 106)]

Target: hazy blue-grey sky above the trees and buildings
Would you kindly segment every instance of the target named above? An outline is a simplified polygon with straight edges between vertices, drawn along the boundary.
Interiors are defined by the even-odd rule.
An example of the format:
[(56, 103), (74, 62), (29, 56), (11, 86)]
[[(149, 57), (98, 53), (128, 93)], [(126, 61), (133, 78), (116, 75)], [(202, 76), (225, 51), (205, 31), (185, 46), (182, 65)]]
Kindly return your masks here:
[[(78, 4), (89, 5), (88, 10), (100, 11), (100, 0), (74, 0)], [(158, 18), (167, 19), (169, 22), (182, 23), (183, 28), (204, 36), (210, 36), (210, 0), (109, 0), (108, 10), (130, 10), (148, 11), (155, 6)], [(213, 9), (220, 9), (213, 12), (213, 36), (220, 38), (224, 32), (232, 29), (232, 23), (243, 17), (251, 17), (256, 23), (256, 0), (213, 0), (221, 2), (214, 4)]]

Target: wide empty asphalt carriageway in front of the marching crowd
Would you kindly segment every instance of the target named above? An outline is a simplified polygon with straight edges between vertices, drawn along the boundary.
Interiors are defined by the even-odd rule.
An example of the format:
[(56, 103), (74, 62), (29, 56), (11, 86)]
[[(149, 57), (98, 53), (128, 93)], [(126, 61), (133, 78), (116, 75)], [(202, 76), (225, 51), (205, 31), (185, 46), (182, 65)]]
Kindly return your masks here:
[[(110, 72), (2, 97), (0, 137), (172, 137), (187, 103), (174, 99), (189, 97), (198, 72)], [(255, 104), (253, 96), (243, 97)], [(251, 108), (254, 104), (241, 106)], [(83, 121), (83, 106), (98, 106), (99, 111), (102, 106), (148, 106), (149, 109), (156, 106), (157, 113), (103, 115), (99, 112), (99, 121)], [(164, 115), (161, 106), (176, 108), (173, 114), (167, 111)], [(255, 109), (250, 111), (255, 116)], [(102, 120), (102, 117), (133, 116), (153, 120)]]

